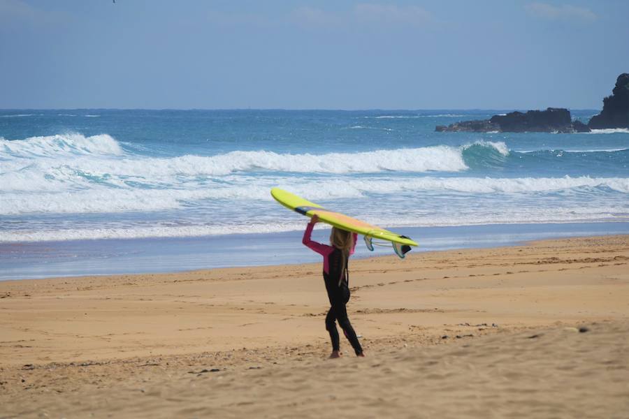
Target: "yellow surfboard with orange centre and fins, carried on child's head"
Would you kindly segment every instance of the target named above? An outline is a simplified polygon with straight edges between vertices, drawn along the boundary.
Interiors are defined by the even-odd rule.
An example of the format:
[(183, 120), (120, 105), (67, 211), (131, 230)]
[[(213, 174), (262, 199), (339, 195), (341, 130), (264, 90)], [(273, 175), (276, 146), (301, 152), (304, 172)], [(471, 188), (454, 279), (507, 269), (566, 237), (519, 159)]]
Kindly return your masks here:
[(293, 210), (294, 212), (298, 212), (310, 218), (317, 214), (319, 220), (324, 223), (336, 228), (341, 228), (342, 230), (363, 235), (365, 237), (365, 244), (369, 250), (373, 251), (373, 239), (386, 240), (387, 242), (391, 242), (396, 254), (400, 256), (400, 258), (404, 258), (405, 253), (410, 251), (411, 247), (419, 246), (419, 244), (411, 240), (410, 237), (384, 230), (384, 228), (373, 226), (365, 221), (352, 218), (340, 212), (326, 210), (326, 208), (321, 207), (319, 204), (311, 203), (309, 200), (305, 200), (301, 198), (301, 196), (296, 196), (294, 193), (284, 191), (283, 189), (271, 189), (271, 196), (289, 210)]

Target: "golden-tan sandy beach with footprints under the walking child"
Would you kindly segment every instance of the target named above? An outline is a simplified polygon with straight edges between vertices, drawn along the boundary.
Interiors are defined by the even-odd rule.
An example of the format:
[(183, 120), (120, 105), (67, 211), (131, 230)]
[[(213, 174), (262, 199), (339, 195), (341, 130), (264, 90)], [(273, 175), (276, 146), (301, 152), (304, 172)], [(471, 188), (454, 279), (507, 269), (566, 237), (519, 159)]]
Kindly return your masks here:
[(0, 418), (629, 418), (628, 266), (629, 236), (353, 260), (340, 360), (320, 264), (4, 281)]

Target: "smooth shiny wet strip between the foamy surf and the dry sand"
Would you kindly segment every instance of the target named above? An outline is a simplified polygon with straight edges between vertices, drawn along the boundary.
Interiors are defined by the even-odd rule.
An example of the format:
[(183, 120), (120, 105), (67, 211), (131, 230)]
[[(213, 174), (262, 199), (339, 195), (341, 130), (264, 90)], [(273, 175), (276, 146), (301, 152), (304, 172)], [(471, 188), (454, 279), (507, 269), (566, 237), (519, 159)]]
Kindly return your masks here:
[[(305, 226), (305, 221), (304, 221)], [(411, 254), (454, 249), (514, 246), (531, 240), (629, 234), (629, 222), (489, 224), (393, 228), (419, 240)], [(327, 241), (315, 229), (313, 240)], [(181, 273), (218, 267), (315, 263), (301, 245), (301, 230), (208, 237), (161, 237), (63, 242), (0, 243), (0, 281), (111, 274)], [(354, 259), (392, 254), (360, 241)]]

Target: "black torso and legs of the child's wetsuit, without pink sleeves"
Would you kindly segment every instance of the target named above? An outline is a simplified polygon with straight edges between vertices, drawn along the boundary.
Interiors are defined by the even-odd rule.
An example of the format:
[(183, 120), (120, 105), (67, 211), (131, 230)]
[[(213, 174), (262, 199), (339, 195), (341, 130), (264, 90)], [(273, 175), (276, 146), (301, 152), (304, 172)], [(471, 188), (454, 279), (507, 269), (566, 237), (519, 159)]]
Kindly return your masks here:
[[(345, 337), (352, 344), (356, 355), (363, 353), (363, 348), (356, 337), (356, 332), (352, 328), (352, 323), (349, 323), (347, 318), (347, 309), (345, 304), (349, 301), (349, 275), (347, 274), (347, 258), (345, 258), (345, 264), (343, 263), (342, 253), (339, 249), (334, 249), (328, 256), (329, 273), (324, 271), (324, 280), (326, 282), (326, 291), (328, 291), (328, 298), (330, 299), (330, 311), (326, 316), (326, 330), (330, 332), (330, 339), (332, 341), (333, 351), (339, 350), (339, 337), (336, 330), (336, 323), (340, 325), (341, 329), (345, 333)], [(342, 279), (341, 278), (342, 275)]]

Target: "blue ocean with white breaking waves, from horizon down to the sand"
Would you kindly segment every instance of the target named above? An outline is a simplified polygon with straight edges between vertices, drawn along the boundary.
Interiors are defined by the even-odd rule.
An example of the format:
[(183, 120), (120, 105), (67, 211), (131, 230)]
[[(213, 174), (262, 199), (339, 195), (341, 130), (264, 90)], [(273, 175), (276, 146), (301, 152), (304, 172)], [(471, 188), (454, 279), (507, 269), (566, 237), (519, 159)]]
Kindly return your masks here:
[(319, 260), (273, 186), (419, 251), (629, 232), (628, 130), (435, 132), (503, 112), (0, 110), (0, 279)]

